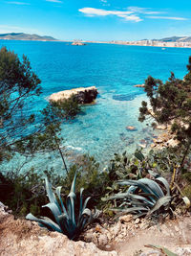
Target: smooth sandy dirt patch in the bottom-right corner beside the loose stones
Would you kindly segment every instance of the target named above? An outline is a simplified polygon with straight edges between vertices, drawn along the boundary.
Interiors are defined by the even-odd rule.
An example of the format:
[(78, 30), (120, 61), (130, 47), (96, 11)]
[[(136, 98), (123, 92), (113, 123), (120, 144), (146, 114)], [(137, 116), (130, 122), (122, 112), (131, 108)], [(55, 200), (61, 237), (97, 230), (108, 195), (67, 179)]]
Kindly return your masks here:
[[(191, 217), (167, 221), (146, 230), (138, 230), (136, 236), (128, 241), (116, 244), (119, 256), (154, 255), (155, 249), (145, 247), (145, 244), (160, 245), (177, 255), (191, 255)], [(150, 251), (150, 252), (149, 252)], [(160, 253), (159, 255), (165, 255)]]

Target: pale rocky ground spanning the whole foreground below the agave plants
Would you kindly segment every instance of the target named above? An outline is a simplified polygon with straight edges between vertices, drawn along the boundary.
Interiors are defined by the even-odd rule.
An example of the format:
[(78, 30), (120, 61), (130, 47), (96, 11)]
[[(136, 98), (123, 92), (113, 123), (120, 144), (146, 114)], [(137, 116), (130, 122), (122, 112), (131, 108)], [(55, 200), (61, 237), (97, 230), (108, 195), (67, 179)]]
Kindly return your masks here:
[[(84, 232), (83, 241), (47, 231), (36, 222), (15, 220), (0, 203), (0, 255), (2, 256), (162, 256), (146, 244), (160, 245), (177, 256), (191, 255), (191, 218), (177, 217), (159, 225), (122, 216), (114, 224), (96, 224)], [(173, 254), (174, 255), (174, 254)]]

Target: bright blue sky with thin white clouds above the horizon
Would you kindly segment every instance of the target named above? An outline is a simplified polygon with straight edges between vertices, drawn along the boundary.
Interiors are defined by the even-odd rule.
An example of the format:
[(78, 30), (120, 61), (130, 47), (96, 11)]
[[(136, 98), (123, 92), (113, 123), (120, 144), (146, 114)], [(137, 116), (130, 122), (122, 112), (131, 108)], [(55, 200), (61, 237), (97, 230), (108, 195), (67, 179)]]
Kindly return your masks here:
[(190, 0), (0, 0), (0, 33), (72, 40), (191, 35)]

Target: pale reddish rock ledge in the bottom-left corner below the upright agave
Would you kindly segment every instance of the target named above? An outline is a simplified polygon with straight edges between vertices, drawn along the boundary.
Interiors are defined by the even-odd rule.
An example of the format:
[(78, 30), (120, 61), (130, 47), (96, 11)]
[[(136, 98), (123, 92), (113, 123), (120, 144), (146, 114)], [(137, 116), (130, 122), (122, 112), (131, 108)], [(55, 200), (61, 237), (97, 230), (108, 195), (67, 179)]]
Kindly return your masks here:
[(74, 242), (66, 236), (40, 228), (37, 223), (14, 220), (0, 206), (0, 255), (2, 256), (117, 256), (116, 251), (102, 251), (93, 243)]

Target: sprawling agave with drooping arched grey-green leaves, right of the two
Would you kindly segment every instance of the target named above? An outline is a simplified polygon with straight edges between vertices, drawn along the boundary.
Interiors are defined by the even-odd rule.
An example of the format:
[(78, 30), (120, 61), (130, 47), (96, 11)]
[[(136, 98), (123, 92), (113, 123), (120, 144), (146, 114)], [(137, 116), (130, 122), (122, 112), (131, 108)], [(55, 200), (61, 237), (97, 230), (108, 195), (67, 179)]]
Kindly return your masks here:
[[(152, 172), (155, 180), (149, 178), (140, 178), (138, 180), (119, 180), (117, 184), (128, 186), (124, 193), (118, 193), (110, 198), (102, 198), (103, 200), (116, 199), (119, 206), (111, 210), (120, 214), (136, 214), (136, 217), (149, 216), (161, 207), (164, 209), (169, 207), (171, 196), (170, 186), (167, 180)], [(165, 188), (165, 193), (161, 189)]]

